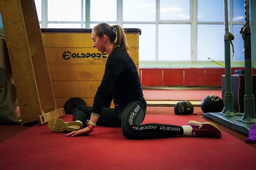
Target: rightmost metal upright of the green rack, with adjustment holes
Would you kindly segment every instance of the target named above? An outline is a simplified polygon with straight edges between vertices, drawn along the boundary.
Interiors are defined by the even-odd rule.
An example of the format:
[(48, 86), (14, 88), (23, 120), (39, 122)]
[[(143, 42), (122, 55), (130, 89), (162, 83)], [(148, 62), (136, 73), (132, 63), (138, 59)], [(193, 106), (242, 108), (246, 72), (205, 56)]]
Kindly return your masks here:
[(244, 95), (244, 115), (237, 121), (246, 124), (255, 124), (255, 103), (252, 94), (252, 68), (251, 68), (251, 26), (249, 16), (249, 0), (245, 0), (245, 25), (240, 29), (244, 40), (245, 53), (245, 95)]

